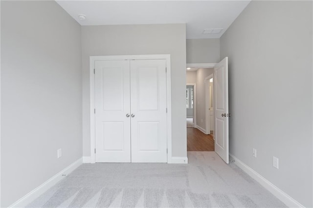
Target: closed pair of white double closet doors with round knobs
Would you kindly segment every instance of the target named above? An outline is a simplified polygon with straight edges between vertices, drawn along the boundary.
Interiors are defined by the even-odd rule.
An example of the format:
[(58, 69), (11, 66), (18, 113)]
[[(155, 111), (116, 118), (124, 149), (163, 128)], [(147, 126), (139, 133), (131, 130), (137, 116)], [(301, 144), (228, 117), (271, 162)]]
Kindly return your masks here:
[(95, 62), (96, 162), (166, 163), (166, 60)]

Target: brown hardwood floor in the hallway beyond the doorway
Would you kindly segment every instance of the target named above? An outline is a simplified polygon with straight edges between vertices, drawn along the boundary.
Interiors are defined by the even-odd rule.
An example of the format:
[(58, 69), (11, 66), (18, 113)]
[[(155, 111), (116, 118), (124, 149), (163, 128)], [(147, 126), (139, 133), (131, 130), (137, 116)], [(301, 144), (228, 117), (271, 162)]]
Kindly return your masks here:
[(187, 151), (214, 151), (214, 140), (198, 128), (187, 128)]

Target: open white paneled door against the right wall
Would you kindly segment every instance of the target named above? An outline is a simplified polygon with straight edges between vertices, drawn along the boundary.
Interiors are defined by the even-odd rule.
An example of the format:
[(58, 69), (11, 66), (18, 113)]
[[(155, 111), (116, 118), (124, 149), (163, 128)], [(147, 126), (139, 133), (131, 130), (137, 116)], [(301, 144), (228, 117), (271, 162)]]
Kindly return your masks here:
[(214, 66), (215, 152), (229, 163), (228, 155), (228, 57)]

